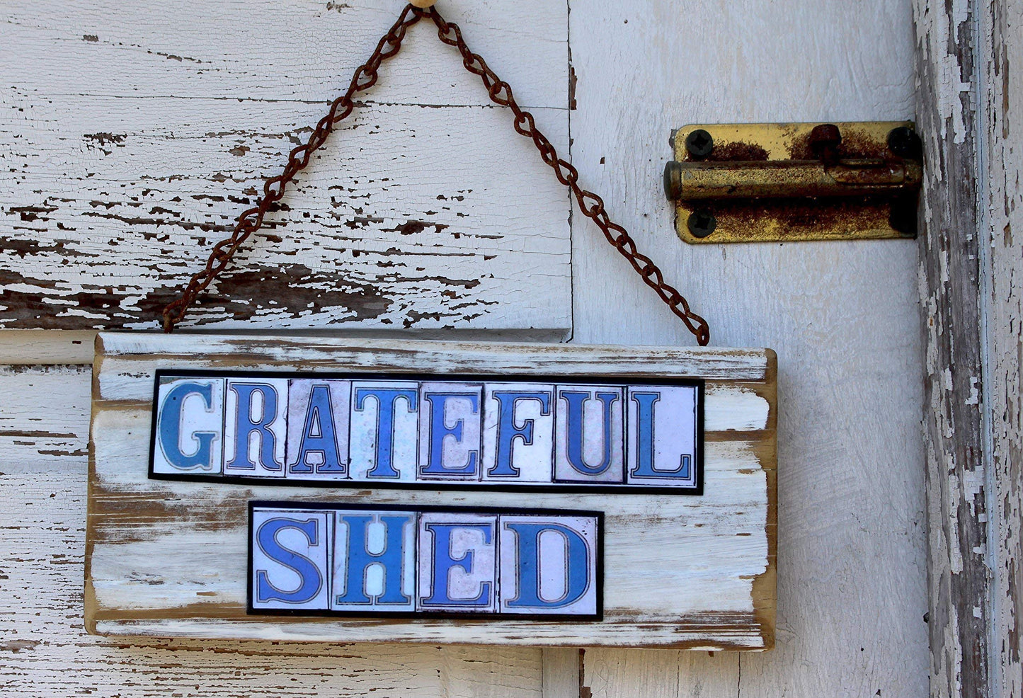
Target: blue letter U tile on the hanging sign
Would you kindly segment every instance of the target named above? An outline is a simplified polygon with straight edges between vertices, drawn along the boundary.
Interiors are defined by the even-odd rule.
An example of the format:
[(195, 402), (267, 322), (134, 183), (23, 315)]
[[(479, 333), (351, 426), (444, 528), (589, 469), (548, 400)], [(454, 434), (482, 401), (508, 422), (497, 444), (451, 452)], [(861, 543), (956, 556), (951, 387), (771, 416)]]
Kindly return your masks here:
[(621, 483), (624, 480), (624, 389), (559, 385), (554, 412), (554, 480)]

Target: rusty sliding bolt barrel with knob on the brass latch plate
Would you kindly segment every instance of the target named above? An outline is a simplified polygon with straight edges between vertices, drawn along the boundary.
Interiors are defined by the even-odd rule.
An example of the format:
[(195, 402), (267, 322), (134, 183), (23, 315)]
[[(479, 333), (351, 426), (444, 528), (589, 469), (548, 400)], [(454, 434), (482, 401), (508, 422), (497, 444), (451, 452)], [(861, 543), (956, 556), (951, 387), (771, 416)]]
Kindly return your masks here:
[[(905, 129), (895, 140), (902, 152), (915, 148), (919, 137)], [(701, 133), (702, 132), (702, 133)], [(804, 197), (898, 197), (916, 192), (923, 179), (920, 160), (892, 152), (887, 158), (842, 157), (837, 126), (813, 129), (809, 149), (817, 160), (705, 160), (709, 134), (699, 134), (700, 155), (685, 162), (669, 162), (664, 169), (664, 189), (675, 202), (722, 199), (797, 199)], [(691, 134), (692, 136), (693, 134)], [(690, 139), (686, 139), (686, 147)], [(894, 149), (894, 148), (893, 148)], [(699, 159), (698, 159), (699, 158)]]

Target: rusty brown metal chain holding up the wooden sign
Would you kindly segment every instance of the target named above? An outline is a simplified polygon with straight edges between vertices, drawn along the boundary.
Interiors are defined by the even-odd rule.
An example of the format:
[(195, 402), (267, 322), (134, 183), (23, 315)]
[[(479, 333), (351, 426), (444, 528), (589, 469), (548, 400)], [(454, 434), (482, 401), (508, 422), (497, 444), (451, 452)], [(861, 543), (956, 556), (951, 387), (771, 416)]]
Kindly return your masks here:
[(405, 6), (398, 20), (376, 44), (376, 49), (370, 55), (369, 60), (355, 71), (348, 90), (333, 100), (330, 104), (330, 111), (316, 124), (316, 128), (306, 144), (299, 145), (291, 151), (284, 171), (266, 181), (263, 186), (263, 197), (257, 202), (257, 205), (238, 216), (238, 222), (229, 237), (214, 246), (206, 267), (192, 276), (179, 299), (164, 308), (164, 332), (174, 330), (174, 325), (184, 317), (195, 297), (210, 286), (217, 274), (227, 266), (246, 239), (262, 226), (267, 211), (283, 197), (287, 183), (309, 164), (310, 156), (326, 141), (335, 125), (348, 117), (355, 108), (352, 97), (357, 92), (367, 90), (376, 83), (376, 71), (381, 63), (398, 53), (405, 32), (425, 16), (430, 17), (437, 26), (437, 36), (442, 42), (458, 49), (465, 70), (480, 76), (490, 99), (496, 104), (511, 110), (515, 115), (515, 130), (533, 141), (540, 151), (540, 158), (553, 169), (558, 181), (568, 186), (572, 191), (582, 214), (596, 223), (608, 242), (629, 261), (647, 286), (654, 289), (668, 308), (685, 323), (690, 332), (696, 336), (700, 346), (706, 346), (710, 341), (710, 328), (707, 325), (707, 321), (693, 312), (685, 298), (664, 280), (664, 275), (657, 264), (636, 249), (635, 242), (628, 231), (611, 220), (605, 210), (604, 200), (592, 191), (587, 191), (579, 186), (579, 172), (571, 163), (558, 157), (553, 145), (536, 128), (533, 116), (529, 112), (523, 111), (515, 100), (511, 87), (498, 78), (497, 74), (487, 66), (482, 57), (469, 49), (457, 25), (445, 21), (436, 8), (419, 9), (412, 5)]

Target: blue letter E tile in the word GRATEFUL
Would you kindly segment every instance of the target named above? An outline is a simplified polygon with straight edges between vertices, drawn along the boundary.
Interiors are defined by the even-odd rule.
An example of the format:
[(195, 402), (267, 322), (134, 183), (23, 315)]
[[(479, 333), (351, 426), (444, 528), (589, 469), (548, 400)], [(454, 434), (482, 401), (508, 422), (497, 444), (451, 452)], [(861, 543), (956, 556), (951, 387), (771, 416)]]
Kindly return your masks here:
[(419, 480), (479, 480), (483, 385), (419, 386)]

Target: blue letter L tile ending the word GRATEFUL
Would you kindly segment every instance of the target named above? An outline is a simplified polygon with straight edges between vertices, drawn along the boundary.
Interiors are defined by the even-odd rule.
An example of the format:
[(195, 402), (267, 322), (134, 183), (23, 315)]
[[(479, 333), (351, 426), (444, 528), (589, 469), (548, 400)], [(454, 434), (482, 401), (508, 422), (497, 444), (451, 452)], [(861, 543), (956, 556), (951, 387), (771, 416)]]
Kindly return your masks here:
[(628, 394), (628, 469), (635, 485), (697, 484), (697, 388), (631, 386)]

